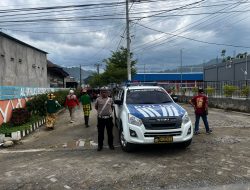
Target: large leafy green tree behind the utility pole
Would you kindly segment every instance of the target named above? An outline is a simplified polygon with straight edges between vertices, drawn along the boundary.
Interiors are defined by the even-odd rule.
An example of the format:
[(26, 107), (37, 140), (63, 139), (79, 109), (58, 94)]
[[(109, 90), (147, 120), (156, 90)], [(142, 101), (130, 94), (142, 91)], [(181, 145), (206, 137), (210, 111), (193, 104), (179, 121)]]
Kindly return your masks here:
[[(133, 53), (130, 53), (131, 57), (131, 74), (136, 73), (135, 64), (137, 60), (133, 59)], [(99, 86), (107, 85), (110, 83), (120, 84), (127, 80), (127, 49), (121, 47), (119, 51), (112, 52), (112, 55), (108, 59), (104, 59), (103, 62), (106, 64), (104, 73), (99, 76), (94, 75), (90, 80), (90, 85)]]

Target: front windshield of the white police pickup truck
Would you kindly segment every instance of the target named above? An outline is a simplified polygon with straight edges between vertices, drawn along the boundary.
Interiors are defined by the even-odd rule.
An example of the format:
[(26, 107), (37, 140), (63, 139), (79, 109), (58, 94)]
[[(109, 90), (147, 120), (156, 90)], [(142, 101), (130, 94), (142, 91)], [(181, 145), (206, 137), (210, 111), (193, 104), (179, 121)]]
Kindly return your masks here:
[(162, 89), (128, 90), (127, 104), (162, 104), (172, 102)]

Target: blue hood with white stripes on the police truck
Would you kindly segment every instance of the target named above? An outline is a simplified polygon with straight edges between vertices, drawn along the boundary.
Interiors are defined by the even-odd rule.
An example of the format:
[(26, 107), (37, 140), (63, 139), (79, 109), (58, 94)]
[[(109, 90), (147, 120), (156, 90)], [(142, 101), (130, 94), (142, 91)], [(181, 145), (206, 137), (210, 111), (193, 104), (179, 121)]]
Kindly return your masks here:
[(129, 113), (138, 117), (183, 117), (185, 110), (176, 103), (167, 104), (129, 104)]

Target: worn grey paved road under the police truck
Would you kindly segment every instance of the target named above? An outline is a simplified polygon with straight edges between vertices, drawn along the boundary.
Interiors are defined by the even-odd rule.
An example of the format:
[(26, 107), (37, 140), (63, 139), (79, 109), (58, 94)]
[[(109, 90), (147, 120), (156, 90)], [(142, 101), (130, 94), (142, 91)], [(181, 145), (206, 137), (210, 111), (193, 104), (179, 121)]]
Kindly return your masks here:
[[(184, 105), (194, 121), (193, 110)], [(10, 149), (0, 149), (0, 189), (250, 189), (250, 116), (210, 109), (214, 133), (195, 136), (186, 150), (143, 146), (96, 151), (96, 113), (85, 128), (67, 111), (53, 131), (41, 127)], [(106, 143), (105, 139), (105, 143)], [(107, 145), (107, 143), (106, 143)]]

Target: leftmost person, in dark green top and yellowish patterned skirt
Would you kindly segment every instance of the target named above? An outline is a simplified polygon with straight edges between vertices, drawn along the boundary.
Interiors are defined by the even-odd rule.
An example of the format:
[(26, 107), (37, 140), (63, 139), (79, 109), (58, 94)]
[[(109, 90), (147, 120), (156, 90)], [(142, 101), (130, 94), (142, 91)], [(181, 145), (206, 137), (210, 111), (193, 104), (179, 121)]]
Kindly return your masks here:
[(50, 93), (48, 94), (48, 100), (45, 101), (45, 108), (47, 112), (45, 126), (47, 129), (54, 129), (56, 122), (55, 113), (57, 112), (58, 108), (61, 107), (58, 101), (54, 100), (54, 98), (54, 94)]

